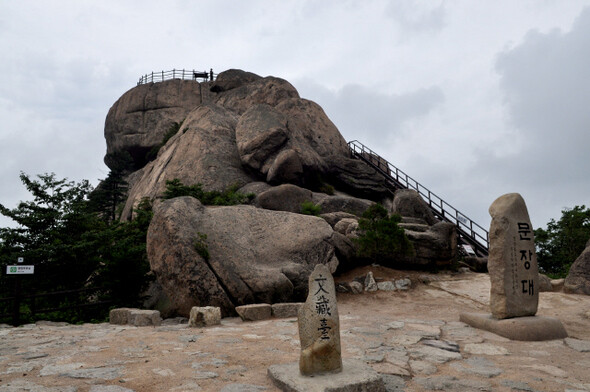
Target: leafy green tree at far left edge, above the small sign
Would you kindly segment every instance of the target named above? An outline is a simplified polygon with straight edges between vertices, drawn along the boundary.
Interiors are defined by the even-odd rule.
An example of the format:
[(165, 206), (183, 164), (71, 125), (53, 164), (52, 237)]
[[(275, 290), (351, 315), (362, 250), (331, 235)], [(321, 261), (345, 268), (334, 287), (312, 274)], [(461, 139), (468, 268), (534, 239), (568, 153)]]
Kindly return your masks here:
[(37, 178), (20, 174), (33, 196), (31, 201), (20, 202), (14, 209), (0, 204), (0, 213), (18, 225), (0, 229), (0, 260), (6, 265), (13, 263), (17, 255), (24, 257), (50, 278), (44, 286), (54, 290), (70, 287), (73, 282), (81, 284), (93, 270), (86, 257), (93, 244), (85, 237), (96, 226), (96, 218), (88, 214), (86, 203), (92, 187), (86, 180), (58, 180), (55, 174)]

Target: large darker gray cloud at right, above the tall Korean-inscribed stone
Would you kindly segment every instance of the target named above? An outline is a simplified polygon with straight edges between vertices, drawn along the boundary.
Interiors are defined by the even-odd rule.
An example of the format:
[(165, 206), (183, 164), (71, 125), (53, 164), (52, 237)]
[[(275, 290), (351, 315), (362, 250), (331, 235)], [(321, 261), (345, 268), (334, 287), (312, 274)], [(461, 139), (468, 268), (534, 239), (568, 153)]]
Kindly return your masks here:
[[(521, 192), (541, 219), (558, 218), (564, 207), (589, 204), (590, 195), (590, 9), (571, 31), (530, 31), (499, 54), (508, 121), (520, 149), (498, 156), (482, 151), (476, 170), (488, 173), (486, 189)], [(498, 193), (498, 195), (501, 193)]]

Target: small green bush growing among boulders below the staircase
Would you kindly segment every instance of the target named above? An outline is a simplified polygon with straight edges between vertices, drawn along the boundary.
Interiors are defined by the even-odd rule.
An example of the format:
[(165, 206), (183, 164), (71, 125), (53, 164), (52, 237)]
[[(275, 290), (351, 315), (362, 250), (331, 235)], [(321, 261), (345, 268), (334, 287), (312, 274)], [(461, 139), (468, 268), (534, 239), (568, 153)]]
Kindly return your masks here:
[(389, 215), (381, 204), (373, 204), (359, 219), (360, 235), (355, 239), (357, 256), (371, 262), (395, 264), (414, 253), (414, 247), (398, 226), (399, 215)]

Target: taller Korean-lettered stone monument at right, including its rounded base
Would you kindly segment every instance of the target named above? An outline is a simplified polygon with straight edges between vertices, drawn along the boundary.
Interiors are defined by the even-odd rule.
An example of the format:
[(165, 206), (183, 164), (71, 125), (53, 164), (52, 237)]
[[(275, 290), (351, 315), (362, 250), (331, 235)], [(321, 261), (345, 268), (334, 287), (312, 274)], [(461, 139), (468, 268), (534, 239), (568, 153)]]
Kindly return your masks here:
[(539, 268), (533, 226), (518, 193), (500, 196), (490, 206), (491, 316), (460, 315), (461, 321), (513, 340), (567, 337), (561, 322), (535, 316), (539, 304)]

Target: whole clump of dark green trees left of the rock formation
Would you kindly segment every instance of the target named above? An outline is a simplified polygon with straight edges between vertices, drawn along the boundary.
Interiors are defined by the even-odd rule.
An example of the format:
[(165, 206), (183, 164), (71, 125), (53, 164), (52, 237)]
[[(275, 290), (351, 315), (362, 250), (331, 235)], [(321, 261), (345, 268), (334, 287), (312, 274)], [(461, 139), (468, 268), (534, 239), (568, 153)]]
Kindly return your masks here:
[[(145, 245), (150, 203), (140, 203), (133, 221), (119, 222), (104, 219), (104, 210), (97, 211), (98, 204), (88, 201), (92, 191), (88, 181), (59, 180), (55, 174), (32, 179), (21, 173), (20, 178), (33, 197), (14, 209), (0, 204), (0, 213), (17, 224), (0, 228), (2, 268), (24, 257), (27, 264), (35, 265), (34, 277), (23, 280), (24, 290), (99, 286), (100, 299), (115, 306), (136, 306), (149, 272)], [(10, 278), (2, 274), (0, 279), (7, 286)], [(94, 317), (88, 314), (61, 316), (67, 321)], [(102, 317), (106, 317), (104, 309)]]

